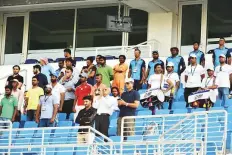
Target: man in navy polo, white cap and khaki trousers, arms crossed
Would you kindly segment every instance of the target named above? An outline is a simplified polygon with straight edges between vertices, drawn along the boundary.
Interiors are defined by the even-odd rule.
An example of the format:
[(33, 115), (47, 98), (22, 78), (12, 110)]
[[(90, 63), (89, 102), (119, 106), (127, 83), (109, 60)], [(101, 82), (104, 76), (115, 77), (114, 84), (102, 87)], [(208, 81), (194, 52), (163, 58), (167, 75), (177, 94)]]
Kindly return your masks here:
[[(125, 116), (135, 116), (136, 109), (139, 106), (140, 95), (138, 91), (133, 90), (134, 80), (129, 78), (126, 81), (127, 91), (122, 93), (121, 99), (118, 100), (120, 109), (119, 118), (117, 122), (117, 133), (121, 136), (121, 121)], [(124, 122), (123, 136), (133, 136), (135, 127), (135, 119), (126, 119)], [(125, 138), (124, 138), (125, 139)]]

